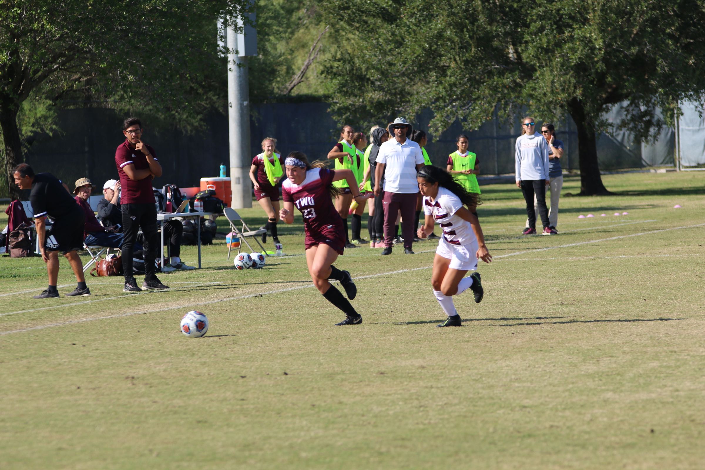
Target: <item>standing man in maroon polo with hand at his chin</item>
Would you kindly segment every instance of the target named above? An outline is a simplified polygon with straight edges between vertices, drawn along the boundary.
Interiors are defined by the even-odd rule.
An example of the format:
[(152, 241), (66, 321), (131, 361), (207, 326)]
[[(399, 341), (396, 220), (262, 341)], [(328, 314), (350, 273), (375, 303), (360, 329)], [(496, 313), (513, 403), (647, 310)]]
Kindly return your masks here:
[[(115, 151), (115, 164), (120, 174), (121, 210), (123, 212), (122, 259), (125, 272), (124, 292), (140, 292), (148, 289), (168, 289), (157, 279), (157, 206), (154, 205), (152, 180), (161, 176), (161, 165), (157, 154), (142, 142), (142, 123), (137, 118), (125, 119), (123, 123), (125, 142)], [(137, 287), (133, 276), (133, 250), (137, 232), (142, 228), (145, 238), (145, 282)]]

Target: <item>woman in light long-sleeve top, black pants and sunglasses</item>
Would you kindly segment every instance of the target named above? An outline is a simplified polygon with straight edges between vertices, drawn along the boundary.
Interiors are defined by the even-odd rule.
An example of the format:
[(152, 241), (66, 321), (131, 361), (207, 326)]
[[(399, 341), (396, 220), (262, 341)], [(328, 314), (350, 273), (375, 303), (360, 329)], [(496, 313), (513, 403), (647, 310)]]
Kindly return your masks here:
[(532, 235), (536, 233), (536, 212), (534, 212), (534, 196), (539, 207), (539, 216), (544, 230), (541, 235), (553, 235), (548, 221), (546, 208), (546, 186), (548, 179), (548, 145), (539, 132), (536, 132), (534, 118), (526, 117), (522, 120), (522, 135), (517, 137), (515, 146), (515, 177), (517, 187), (520, 187), (527, 203), (527, 216), (529, 226), (522, 233)]

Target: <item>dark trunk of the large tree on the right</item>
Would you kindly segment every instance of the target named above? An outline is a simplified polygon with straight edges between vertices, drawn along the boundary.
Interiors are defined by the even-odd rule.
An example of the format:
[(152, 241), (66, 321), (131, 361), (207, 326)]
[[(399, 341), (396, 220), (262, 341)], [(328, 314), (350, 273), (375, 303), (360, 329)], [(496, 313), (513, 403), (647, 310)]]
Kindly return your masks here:
[(602, 184), (599, 163), (597, 163), (597, 137), (595, 128), (585, 116), (585, 109), (579, 99), (568, 103), (568, 112), (577, 128), (577, 150), (580, 162), (580, 195), (595, 196), (612, 194)]

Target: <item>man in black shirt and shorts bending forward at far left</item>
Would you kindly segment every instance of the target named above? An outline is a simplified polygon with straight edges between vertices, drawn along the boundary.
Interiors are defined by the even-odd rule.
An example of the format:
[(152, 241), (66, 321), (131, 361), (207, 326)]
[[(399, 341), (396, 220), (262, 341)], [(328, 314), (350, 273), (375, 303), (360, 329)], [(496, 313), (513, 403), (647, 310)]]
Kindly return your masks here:
[[(20, 163), (13, 168), (12, 175), (20, 190), (32, 190), (30, 202), (35, 215), (39, 249), (49, 273), (49, 287), (41, 294), (35, 295), (35, 299), (59, 297), (59, 291), (56, 290), (56, 281), (59, 278), (59, 251), (63, 252), (63, 256), (68, 259), (78, 281), (78, 287), (66, 296), (90, 295), (90, 289), (86, 286), (83, 276), (81, 259), (76, 253), (83, 247), (85, 215), (82, 209), (73, 200), (71, 194), (66, 192), (61, 181), (54, 178), (51, 173), (35, 175), (31, 166)], [(47, 216), (54, 221), (49, 237), (47, 237), (46, 227)]]

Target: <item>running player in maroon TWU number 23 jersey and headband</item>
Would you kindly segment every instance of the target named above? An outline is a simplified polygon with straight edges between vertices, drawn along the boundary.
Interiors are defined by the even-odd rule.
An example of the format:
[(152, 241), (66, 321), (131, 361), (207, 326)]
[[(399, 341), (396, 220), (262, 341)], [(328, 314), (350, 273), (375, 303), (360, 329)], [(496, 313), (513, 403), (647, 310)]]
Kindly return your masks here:
[[(279, 218), (284, 223), (293, 223), (294, 206), (301, 212), (306, 230), (306, 264), (314, 285), (326, 300), (345, 313), (345, 320), (336, 325), (358, 325), (362, 323), (362, 316), (348, 300), (355, 299), (357, 287), (348, 271), (333, 266), (338, 255), (343, 254), (346, 239), (343, 219), (331, 201), (331, 195), (338, 193), (333, 181), (345, 180), (358, 204), (364, 204), (369, 196), (360, 194), (352, 171), (329, 170), (319, 161), (308, 163), (300, 151), (291, 152), (284, 164), (286, 180), (281, 189), (284, 206), (279, 211)], [(331, 285), (329, 279), (341, 283), (348, 299)]]

